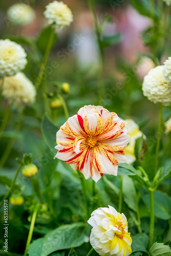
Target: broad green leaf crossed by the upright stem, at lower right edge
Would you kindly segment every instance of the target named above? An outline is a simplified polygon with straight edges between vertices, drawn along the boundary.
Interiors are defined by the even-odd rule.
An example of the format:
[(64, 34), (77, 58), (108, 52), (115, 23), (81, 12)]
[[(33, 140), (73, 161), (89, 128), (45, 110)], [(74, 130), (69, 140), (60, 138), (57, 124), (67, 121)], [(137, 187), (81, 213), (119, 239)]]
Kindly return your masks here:
[[(149, 193), (145, 188), (141, 188), (142, 199), (144, 203), (149, 207)], [(154, 192), (154, 208), (155, 208), (155, 216), (162, 220), (168, 220), (171, 217), (171, 198), (161, 192)]]

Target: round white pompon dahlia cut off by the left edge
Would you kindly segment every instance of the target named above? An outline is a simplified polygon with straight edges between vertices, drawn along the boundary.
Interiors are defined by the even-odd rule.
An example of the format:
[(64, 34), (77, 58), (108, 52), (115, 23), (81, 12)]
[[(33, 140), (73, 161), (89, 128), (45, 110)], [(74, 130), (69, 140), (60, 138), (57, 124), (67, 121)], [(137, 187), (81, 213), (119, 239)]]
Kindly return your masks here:
[(0, 40), (0, 76), (14, 76), (27, 64), (24, 48), (10, 39)]

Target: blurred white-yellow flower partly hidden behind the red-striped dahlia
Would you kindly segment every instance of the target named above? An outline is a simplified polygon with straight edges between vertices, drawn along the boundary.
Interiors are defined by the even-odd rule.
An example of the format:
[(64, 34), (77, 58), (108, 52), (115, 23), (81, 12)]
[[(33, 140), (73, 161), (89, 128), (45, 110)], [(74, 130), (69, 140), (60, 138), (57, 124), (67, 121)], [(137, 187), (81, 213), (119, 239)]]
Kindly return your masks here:
[(145, 139), (145, 135), (139, 130), (138, 124), (133, 119), (124, 120), (125, 126), (127, 128), (127, 133), (130, 135), (129, 144), (126, 146), (124, 152), (126, 156), (126, 162), (132, 164), (135, 162), (135, 143), (136, 139), (143, 137)]

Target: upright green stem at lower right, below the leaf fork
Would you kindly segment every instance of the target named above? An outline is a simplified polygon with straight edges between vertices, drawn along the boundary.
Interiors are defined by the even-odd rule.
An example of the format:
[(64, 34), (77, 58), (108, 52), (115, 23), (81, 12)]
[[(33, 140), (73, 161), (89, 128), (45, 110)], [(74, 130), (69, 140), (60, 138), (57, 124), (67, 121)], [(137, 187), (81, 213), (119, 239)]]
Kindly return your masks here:
[(149, 224), (149, 242), (148, 248), (152, 247), (153, 244), (153, 234), (155, 225), (155, 215), (154, 215), (154, 191), (149, 191), (149, 203), (150, 203), (150, 224)]

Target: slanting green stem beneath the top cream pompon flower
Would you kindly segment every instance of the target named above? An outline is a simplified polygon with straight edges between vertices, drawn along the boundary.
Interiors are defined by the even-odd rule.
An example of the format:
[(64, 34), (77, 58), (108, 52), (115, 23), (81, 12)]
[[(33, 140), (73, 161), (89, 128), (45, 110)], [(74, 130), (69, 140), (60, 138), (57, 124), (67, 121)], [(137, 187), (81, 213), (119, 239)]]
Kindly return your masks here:
[(47, 48), (46, 48), (46, 51), (45, 51), (44, 59), (41, 62), (40, 70), (39, 70), (37, 79), (35, 81), (35, 86), (37, 88), (39, 87), (39, 85), (42, 81), (42, 77), (43, 77), (44, 72), (45, 72), (45, 68), (46, 68), (48, 57), (49, 57), (49, 53), (50, 53), (50, 50), (51, 50), (52, 45), (53, 45), (54, 35), (55, 35), (55, 31), (54, 31), (54, 28), (52, 28), (51, 34), (50, 34), (50, 37), (49, 37), (49, 41), (48, 41), (48, 45), (47, 45)]

